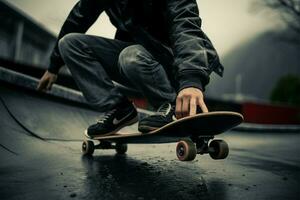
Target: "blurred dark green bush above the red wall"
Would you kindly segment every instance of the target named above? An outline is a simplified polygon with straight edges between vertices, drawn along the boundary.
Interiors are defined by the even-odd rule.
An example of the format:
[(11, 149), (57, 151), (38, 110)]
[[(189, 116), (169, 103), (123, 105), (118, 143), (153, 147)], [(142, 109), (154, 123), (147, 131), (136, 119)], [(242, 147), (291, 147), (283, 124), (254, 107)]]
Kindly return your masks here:
[(272, 90), (271, 102), (300, 106), (300, 77), (286, 75), (280, 78)]

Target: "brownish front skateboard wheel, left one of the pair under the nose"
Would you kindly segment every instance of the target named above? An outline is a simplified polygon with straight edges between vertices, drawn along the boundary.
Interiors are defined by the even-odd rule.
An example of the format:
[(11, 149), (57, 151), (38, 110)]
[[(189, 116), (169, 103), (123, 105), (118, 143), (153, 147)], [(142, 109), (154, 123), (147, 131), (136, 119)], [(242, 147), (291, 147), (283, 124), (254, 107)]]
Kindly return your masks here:
[(182, 140), (177, 143), (176, 154), (180, 161), (192, 161), (197, 155), (197, 149), (191, 140)]

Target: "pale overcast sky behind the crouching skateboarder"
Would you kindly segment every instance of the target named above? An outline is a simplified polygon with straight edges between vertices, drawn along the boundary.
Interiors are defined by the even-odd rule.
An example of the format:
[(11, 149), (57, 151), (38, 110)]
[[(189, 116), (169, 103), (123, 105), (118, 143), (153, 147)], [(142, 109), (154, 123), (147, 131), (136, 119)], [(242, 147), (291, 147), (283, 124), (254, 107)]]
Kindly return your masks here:
[[(78, 0), (7, 0), (57, 34)], [(249, 12), (255, 0), (197, 0), (203, 30), (223, 56), (233, 47), (279, 24), (274, 15)], [(275, 19), (275, 20), (274, 20)], [(276, 21), (276, 22), (275, 22)], [(102, 14), (89, 34), (112, 38), (114, 27)]]

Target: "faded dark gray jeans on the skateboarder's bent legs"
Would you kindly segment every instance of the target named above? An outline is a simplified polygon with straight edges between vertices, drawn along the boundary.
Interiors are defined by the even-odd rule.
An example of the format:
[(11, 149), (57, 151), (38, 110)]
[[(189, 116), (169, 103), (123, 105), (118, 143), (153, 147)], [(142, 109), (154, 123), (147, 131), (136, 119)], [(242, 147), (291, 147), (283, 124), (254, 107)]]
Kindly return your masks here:
[(58, 46), (84, 97), (101, 112), (125, 97), (112, 81), (139, 90), (154, 107), (176, 99), (163, 66), (141, 45), (71, 33)]

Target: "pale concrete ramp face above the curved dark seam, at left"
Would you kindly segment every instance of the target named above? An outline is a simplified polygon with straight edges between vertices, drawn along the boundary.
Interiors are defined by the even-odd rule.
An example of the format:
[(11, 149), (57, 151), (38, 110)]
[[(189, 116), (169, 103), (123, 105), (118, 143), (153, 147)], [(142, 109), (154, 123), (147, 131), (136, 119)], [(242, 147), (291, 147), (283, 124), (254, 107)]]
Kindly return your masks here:
[(29, 134), (45, 140), (82, 140), (84, 130), (101, 115), (78, 104), (53, 101), (21, 89), (0, 87), (0, 97), (2, 110)]

